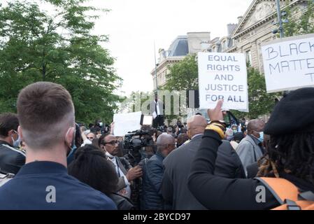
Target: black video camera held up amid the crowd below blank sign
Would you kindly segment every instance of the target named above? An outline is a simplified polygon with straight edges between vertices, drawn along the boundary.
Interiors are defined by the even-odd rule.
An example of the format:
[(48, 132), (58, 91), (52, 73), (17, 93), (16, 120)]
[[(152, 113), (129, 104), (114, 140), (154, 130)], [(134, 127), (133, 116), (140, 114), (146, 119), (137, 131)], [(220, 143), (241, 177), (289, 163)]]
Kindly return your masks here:
[(142, 147), (152, 146), (153, 130), (136, 130), (124, 136), (123, 148), (139, 151)]

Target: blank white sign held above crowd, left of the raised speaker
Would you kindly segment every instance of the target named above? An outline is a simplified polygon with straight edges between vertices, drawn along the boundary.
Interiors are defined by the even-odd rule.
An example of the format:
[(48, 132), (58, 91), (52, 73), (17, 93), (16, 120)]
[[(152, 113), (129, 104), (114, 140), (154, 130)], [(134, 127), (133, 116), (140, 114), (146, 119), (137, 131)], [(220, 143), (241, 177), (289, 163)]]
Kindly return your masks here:
[(133, 132), (141, 129), (141, 116), (142, 112), (134, 113), (117, 113), (113, 115), (113, 122), (115, 128), (113, 134), (115, 136), (124, 136), (127, 132)]

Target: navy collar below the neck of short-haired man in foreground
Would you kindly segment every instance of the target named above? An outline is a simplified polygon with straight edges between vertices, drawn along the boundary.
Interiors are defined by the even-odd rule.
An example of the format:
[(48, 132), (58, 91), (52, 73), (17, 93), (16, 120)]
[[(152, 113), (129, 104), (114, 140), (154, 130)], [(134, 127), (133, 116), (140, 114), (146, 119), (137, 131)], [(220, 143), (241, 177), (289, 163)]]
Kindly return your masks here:
[(29, 162), (22, 166), (16, 176), (27, 174), (68, 174), (68, 170), (64, 165), (50, 161)]

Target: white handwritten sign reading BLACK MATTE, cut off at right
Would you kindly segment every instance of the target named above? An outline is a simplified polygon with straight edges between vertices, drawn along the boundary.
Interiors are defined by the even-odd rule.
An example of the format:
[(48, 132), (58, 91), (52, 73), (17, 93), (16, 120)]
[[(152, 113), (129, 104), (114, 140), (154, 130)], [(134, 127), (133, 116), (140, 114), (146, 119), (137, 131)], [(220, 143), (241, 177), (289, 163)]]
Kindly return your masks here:
[(314, 34), (262, 44), (267, 92), (314, 85)]

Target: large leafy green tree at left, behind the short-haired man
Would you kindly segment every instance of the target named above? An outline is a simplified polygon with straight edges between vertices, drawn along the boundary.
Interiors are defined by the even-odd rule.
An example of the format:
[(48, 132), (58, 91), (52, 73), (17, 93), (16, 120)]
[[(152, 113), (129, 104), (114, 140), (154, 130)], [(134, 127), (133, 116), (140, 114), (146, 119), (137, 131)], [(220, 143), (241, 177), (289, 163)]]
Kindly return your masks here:
[(49, 12), (37, 1), (10, 1), (0, 9), (0, 112), (16, 111), (18, 92), (29, 83), (51, 81), (71, 93), (76, 120), (95, 118), (110, 122), (117, 109), (113, 91), (121, 78), (114, 59), (93, 35), (100, 10), (82, 6), (86, 0), (45, 0)]

